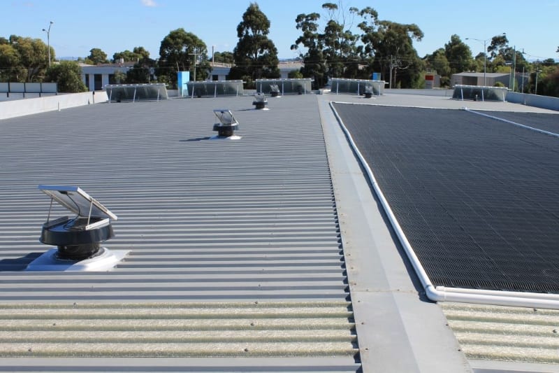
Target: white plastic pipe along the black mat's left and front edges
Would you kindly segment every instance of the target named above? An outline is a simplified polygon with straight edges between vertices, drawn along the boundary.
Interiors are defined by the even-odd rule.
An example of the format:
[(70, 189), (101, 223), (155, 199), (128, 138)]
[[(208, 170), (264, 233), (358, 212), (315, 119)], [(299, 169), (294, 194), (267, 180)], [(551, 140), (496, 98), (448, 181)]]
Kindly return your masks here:
[(382, 204), (382, 207), (388, 216), (390, 223), (404, 248), (404, 251), (409, 258), (409, 261), (412, 262), (412, 266), (415, 269), (417, 276), (419, 277), (419, 281), (421, 281), (421, 285), (425, 290), (425, 294), (430, 300), (435, 302), (464, 302), (464, 303), (478, 303), (478, 304), (495, 304), (498, 306), (514, 306), (514, 307), (532, 307), (532, 308), (542, 308), (542, 309), (559, 309), (559, 295), (557, 294), (540, 294), (540, 293), (521, 293), (521, 292), (510, 292), (510, 291), (498, 291), (498, 290), (477, 290), (477, 289), (466, 289), (466, 288), (447, 288), (444, 286), (437, 286), (435, 287), (433, 283), (431, 283), (429, 277), (427, 276), (427, 272), (423, 269), (421, 262), (419, 262), (419, 258), (417, 258), (412, 245), (409, 244), (407, 237), (400, 227), (398, 220), (396, 220), (392, 209), (389, 206), (388, 201), (384, 197), (382, 190), (377, 183), (377, 179), (375, 175), (372, 174), (372, 170), (370, 169), (368, 163), (365, 161), (365, 158), (358, 150), (356, 143), (351, 138), (351, 134), (347, 130), (338, 115), (337, 111), (335, 110), (333, 104), (335, 101), (330, 101), (330, 107), (337, 119), (337, 122), (342, 127), (344, 134), (347, 136), (351, 148), (353, 148), (354, 152), (356, 153), (359, 162), (367, 172), (367, 176), (369, 181), (372, 185), (372, 188), (375, 190), (379, 201)]

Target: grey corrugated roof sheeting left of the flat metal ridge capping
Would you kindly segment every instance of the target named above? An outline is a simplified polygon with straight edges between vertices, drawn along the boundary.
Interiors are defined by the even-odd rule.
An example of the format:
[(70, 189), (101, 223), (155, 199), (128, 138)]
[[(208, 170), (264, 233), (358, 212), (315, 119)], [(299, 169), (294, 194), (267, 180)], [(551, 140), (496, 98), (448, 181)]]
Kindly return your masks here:
[[(70, 305), (69, 311), (73, 312), (73, 304), (107, 305), (110, 310), (120, 305), (129, 316), (135, 315), (137, 305), (142, 304), (147, 307), (145, 313), (153, 312), (153, 318), (159, 320), (161, 309), (175, 304), (217, 309), (221, 312), (219, 318), (235, 318), (256, 302), (259, 307), (272, 304), (261, 308), (263, 314), (259, 317), (281, 318), (282, 323), (293, 318), (286, 330), (298, 331), (280, 337), (274, 330), (282, 330), (281, 323), (264, 323), (270, 325), (269, 330), (262, 328), (263, 339), (253, 335), (256, 342), (249, 346), (249, 353), (258, 350), (254, 356), (337, 356), (339, 367), (344, 367), (340, 371), (346, 371), (345, 367), (358, 369), (354, 363), (357, 350), (351, 303), (316, 97), (269, 101), (270, 110), (258, 111), (252, 108), (252, 97), (98, 104), (3, 120), (3, 307), (22, 307), (23, 315), (38, 313), (42, 315), (40, 319), (48, 318), (49, 323), (59, 325), (57, 312), (45, 311), (51, 305), (63, 307), (58, 314), (64, 319), (62, 315), (68, 311), (64, 307)], [(212, 132), (215, 108), (231, 109), (240, 122), (235, 134), (242, 139), (209, 139), (216, 134)], [(39, 184), (78, 185), (115, 213), (118, 220), (112, 225), (116, 237), (104, 246), (129, 250), (124, 261), (112, 271), (101, 273), (23, 272), (27, 263), (50, 248), (38, 242), (50, 204), (50, 199), (37, 190)], [(67, 214), (56, 208), (51, 216)], [(324, 310), (326, 306), (336, 310), (335, 326), (330, 316), (309, 319), (310, 314), (318, 312), (317, 307)], [(277, 309), (286, 311), (289, 307), (298, 311), (288, 312), (289, 317), (276, 315)], [(270, 317), (266, 316), (268, 311)], [(106, 325), (117, 323), (115, 330), (126, 329), (119, 320), (111, 321), (114, 314), (106, 311), (101, 320), (106, 320)], [(166, 316), (161, 317), (166, 320)], [(240, 318), (245, 320), (245, 316)], [(76, 328), (83, 332), (88, 328), (98, 330), (99, 323), (82, 324), (85, 319), (79, 317), (76, 320), (82, 325)], [(37, 356), (73, 355), (71, 349), (56, 347), (64, 343), (64, 334), (43, 335), (45, 330), (34, 329), (34, 321), (20, 322), (25, 332), (18, 340), (44, 340), (50, 344), (49, 349), (39, 349), (50, 353)], [(340, 329), (340, 323), (344, 328)], [(152, 319), (139, 317), (134, 330), (145, 333), (140, 338), (155, 338), (150, 334), (153, 324)], [(229, 332), (230, 327), (215, 323), (213, 346), (218, 352), (212, 353), (213, 342), (200, 342), (196, 338), (201, 336), (190, 331), (183, 336), (184, 343), (195, 341), (198, 347), (208, 343), (207, 348), (196, 353), (196, 349), (182, 346), (173, 356), (247, 356), (245, 349), (236, 347), (231, 350), (237, 351), (236, 355), (219, 353), (219, 339), (226, 342), (228, 335), (237, 335)], [(321, 330), (315, 336), (317, 343), (309, 342), (309, 337), (300, 332), (308, 329)], [(333, 337), (338, 332), (343, 336)], [(269, 343), (264, 342), (266, 335), (270, 336)], [(166, 338), (170, 341), (173, 337), (170, 333), (169, 336)], [(75, 338), (80, 339), (79, 335)], [(112, 337), (99, 338), (107, 342)], [(203, 341), (211, 338), (205, 335)], [(251, 340), (242, 337), (242, 332), (235, 338), (246, 343)], [(334, 339), (336, 342), (332, 342)], [(175, 342), (161, 346), (165, 343), (170, 346)], [(337, 346), (333, 347), (333, 343)], [(1, 349), (4, 356), (12, 354), (6, 345)], [(60, 355), (56, 351), (66, 352)], [(122, 341), (115, 349), (100, 351), (103, 352), (94, 355), (153, 356), (140, 347), (136, 352), (128, 351)], [(316, 361), (309, 369), (314, 364)]]

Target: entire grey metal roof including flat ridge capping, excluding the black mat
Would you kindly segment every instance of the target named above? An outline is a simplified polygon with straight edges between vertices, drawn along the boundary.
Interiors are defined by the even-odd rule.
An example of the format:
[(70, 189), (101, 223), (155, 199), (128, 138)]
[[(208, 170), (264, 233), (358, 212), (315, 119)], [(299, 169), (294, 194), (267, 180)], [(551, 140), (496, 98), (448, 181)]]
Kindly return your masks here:
[[(482, 316), (516, 308), (426, 300), (331, 100), (463, 106), (306, 94), (269, 99), (270, 110), (254, 110), (251, 97), (173, 99), (3, 120), (2, 369), (555, 369), (531, 365), (557, 363), (553, 336), (526, 346), (558, 321), (553, 310), (512, 317), (542, 329), (517, 328), (524, 342), (511, 365), (496, 363), (511, 360), (506, 344), (484, 355), (476, 341), (511, 325), (493, 316), (486, 328)], [(210, 139), (215, 108), (231, 109), (242, 139)], [(48, 249), (38, 242), (50, 203), (39, 184), (78, 185), (115, 213), (105, 246), (130, 251), (124, 261), (102, 273), (24, 272)], [(521, 358), (538, 349), (551, 358)]]

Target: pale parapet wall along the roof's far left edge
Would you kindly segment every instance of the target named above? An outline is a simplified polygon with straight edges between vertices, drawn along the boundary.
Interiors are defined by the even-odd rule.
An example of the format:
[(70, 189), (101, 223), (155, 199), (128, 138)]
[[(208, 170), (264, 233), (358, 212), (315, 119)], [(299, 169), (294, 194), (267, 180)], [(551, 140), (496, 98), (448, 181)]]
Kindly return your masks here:
[(23, 115), (64, 110), (76, 106), (99, 104), (108, 100), (105, 91), (57, 94), (50, 97), (17, 99), (0, 102), (0, 120)]

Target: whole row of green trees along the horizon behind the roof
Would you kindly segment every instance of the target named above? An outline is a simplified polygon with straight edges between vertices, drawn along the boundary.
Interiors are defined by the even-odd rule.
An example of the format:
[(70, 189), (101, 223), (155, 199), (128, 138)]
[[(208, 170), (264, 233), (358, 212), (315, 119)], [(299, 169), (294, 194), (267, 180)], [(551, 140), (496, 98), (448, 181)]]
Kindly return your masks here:
[[(487, 49), (475, 57), (458, 35), (433, 53), (419, 57), (414, 41), (421, 41), (423, 31), (416, 24), (400, 24), (379, 18), (374, 8), (344, 8), (342, 0), (324, 3), (321, 13), (301, 13), (295, 19), (300, 36), (291, 45), (303, 62), (292, 77), (313, 78), (314, 87), (324, 87), (328, 78), (370, 79), (380, 73), (390, 87), (422, 88), (426, 72), (438, 73), (442, 87), (449, 87), (453, 73), (463, 71), (530, 74), (530, 84), (515, 90), (559, 97), (559, 64), (553, 59), (529, 62), (522, 50), (511, 48), (507, 36), (493, 36)], [(215, 62), (231, 64), (228, 79), (243, 80), (254, 87), (259, 78), (279, 78), (277, 48), (268, 34), (270, 21), (257, 3), (250, 3), (237, 27), (238, 43), (232, 52), (216, 52), (208, 56), (201, 38), (182, 28), (170, 31), (163, 38), (159, 58), (150, 58), (143, 47), (124, 50), (108, 59), (103, 50), (92, 48), (89, 56), (78, 59), (86, 64), (133, 62), (126, 74), (115, 73), (114, 83), (159, 83), (175, 87), (177, 71), (190, 71), (191, 79), (205, 80)], [(474, 39), (477, 40), (477, 39)], [(484, 43), (484, 45), (486, 45)], [(559, 47), (557, 52), (559, 52)], [(48, 46), (41, 39), (0, 37), (0, 81), (56, 81), (59, 90), (80, 92), (77, 62), (50, 64)], [(51, 62), (55, 50), (50, 47)], [(64, 92), (64, 91), (61, 91)]]

